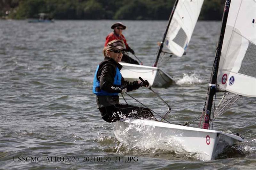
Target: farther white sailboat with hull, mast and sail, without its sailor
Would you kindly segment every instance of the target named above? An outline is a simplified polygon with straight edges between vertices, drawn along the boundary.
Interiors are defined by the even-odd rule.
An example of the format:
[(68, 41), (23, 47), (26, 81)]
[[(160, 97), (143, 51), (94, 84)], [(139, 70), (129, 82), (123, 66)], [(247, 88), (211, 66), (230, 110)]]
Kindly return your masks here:
[[(157, 67), (159, 58), (164, 54), (174, 54), (179, 57), (183, 55), (192, 36), (203, 2), (204, 0), (176, 0), (157, 52), (154, 67), (121, 62), (120, 64), (123, 66), (122, 76), (128, 81), (139, 80), (139, 77), (143, 77), (152, 86), (171, 84), (173, 78)], [(164, 44), (171, 52), (163, 51)]]

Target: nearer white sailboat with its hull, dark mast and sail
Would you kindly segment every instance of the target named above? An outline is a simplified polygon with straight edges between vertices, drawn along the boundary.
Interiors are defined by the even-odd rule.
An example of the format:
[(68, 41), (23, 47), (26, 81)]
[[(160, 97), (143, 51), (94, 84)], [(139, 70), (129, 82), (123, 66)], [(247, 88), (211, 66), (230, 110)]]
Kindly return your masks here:
[[(243, 142), (239, 134), (212, 129), (213, 120), (241, 96), (256, 97), (255, 11), (255, 0), (226, 0), (205, 108), (201, 116), (201, 120), (204, 120), (202, 128), (201, 120), (198, 128), (195, 128), (151, 120), (128, 119), (112, 123), (116, 138), (120, 142), (134, 144), (150, 144), (155, 140), (157, 147), (172, 145), (172, 149), (196, 153), (196, 157), (201, 160), (215, 159), (226, 146)], [(220, 88), (227, 92), (211, 117), (217, 79), (221, 83)], [(235, 96), (227, 99), (229, 92)]]

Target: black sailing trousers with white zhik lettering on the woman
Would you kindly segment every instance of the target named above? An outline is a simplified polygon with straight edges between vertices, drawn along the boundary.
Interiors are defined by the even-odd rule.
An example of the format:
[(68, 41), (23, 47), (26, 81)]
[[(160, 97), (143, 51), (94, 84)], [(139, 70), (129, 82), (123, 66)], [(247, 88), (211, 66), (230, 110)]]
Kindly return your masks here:
[(127, 117), (156, 120), (151, 110), (146, 107), (137, 107), (127, 104), (115, 104), (99, 108), (101, 117), (106, 122), (116, 122)]

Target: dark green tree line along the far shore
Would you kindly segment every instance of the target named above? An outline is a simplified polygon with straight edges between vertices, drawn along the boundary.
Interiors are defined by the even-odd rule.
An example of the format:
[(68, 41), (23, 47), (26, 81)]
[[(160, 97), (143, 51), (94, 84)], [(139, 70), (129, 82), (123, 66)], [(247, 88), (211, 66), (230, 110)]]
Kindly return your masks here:
[[(190, 1), (190, 0), (188, 0)], [(193, 0), (196, 1), (196, 0)], [(168, 20), (175, 0), (0, 0), (0, 17)], [(199, 20), (221, 20), (225, 0), (204, 0)]]

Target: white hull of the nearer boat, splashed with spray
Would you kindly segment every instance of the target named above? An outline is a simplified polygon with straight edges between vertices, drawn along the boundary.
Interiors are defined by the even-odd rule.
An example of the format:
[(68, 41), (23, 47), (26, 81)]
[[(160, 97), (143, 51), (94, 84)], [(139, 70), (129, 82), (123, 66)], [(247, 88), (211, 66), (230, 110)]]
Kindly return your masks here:
[[(227, 145), (243, 139), (233, 134), (216, 130), (199, 129), (151, 120), (129, 119), (112, 123), (117, 140), (141, 144), (157, 141), (164, 147), (171, 145), (173, 150), (196, 153), (200, 160), (214, 159)], [(154, 147), (154, 146), (152, 146)]]

